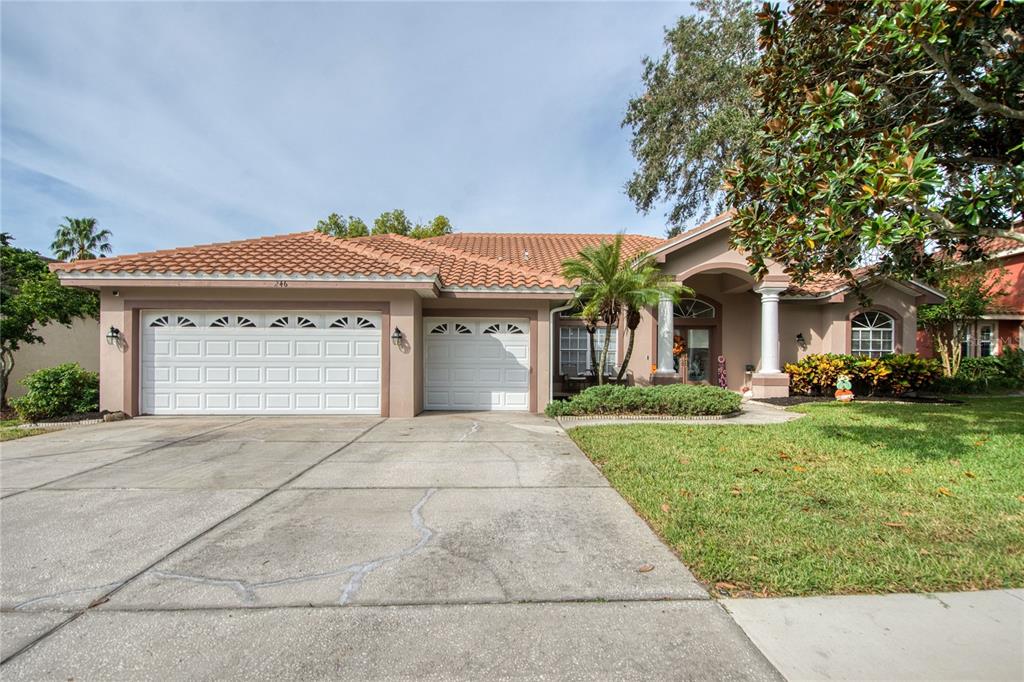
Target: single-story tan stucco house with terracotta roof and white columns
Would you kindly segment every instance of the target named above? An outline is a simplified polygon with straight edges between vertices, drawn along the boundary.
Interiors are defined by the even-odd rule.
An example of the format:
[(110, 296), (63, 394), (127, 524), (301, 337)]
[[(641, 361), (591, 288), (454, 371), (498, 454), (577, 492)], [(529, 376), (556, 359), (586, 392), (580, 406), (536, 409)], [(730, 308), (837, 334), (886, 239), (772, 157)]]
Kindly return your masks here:
[[(812, 352), (911, 352), (918, 284), (754, 280), (731, 214), (672, 240), (628, 236), (692, 298), (645, 310), (630, 380), (752, 386), (785, 395), (784, 363)], [(54, 264), (100, 292), (100, 408), (156, 414), (372, 414), (544, 409), (589, 365), (561, 262), (609, 235), (297, 232)], [(865, 275), (866, 276), (866, 275)], [(614, 365), (625, 330), (610, 343)], [(599, 334), (604, 334), (601, 330)], [(679, 350), (679, 342), (685, 350)]]

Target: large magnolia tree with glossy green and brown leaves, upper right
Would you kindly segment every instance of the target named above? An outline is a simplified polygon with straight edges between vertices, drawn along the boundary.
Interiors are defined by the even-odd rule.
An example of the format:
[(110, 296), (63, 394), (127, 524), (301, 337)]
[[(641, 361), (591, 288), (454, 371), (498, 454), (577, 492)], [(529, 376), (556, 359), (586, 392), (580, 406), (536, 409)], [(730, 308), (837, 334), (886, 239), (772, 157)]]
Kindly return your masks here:
[(758, 14), (761, 127), (727, 173), (733, 244), (797, 281), (1024, 242), (1024, 3), (793, 0)]

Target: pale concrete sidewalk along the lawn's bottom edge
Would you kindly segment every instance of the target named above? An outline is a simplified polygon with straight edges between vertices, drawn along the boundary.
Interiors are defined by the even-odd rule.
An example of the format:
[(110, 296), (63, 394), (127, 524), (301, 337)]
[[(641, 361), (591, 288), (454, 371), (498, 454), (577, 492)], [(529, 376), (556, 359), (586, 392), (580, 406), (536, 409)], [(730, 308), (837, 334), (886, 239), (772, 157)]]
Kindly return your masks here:
[(723, 604), (790, 680), (1024, 679), (1024, 590)]

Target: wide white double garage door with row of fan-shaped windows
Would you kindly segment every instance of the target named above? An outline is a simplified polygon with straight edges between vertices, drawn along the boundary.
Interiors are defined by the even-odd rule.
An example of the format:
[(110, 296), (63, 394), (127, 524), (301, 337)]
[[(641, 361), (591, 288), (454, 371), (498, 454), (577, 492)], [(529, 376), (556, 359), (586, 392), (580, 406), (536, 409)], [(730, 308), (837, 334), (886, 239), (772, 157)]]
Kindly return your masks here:
[(379, 314), (160, 310), (141, 324), (145, 414), (380, 414)]

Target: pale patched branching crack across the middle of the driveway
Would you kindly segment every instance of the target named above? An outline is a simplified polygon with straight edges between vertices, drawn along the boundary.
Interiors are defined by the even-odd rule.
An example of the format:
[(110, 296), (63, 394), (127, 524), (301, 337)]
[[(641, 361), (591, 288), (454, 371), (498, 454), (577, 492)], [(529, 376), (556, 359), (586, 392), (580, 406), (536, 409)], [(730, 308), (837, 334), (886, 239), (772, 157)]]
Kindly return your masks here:
[(189, 583), (198, 583), (201, 585), (208, 585), (212, 587), (226, 587), (231, 589), (245, 604), (253, 605), (258, 602), (257, 590), (280, 587), (282, 585), (299, 585), (302, 583), (309, 583), (311, 581), (318, 581), (329, 578), (337, 578), (339, 576), (344, 576), (346, 573), (351, 573), (351, 577), (345, 583), (344, 588), (342, 588), (341, 595), (338, 598), (339, 605), (345, 605), (349, 603), (359, 588), (362, 586), (364, 579), (372, 573), (377, 568), (381, 567), (386, 563), (392, 561), (397, 561), (399, 559), (404, 559), (407, 557), (413, 556), (420, 552), (427, 543), (434, 537), (434, 529), (431, 528), (423, 520), (423, 507), (427, 504), (427, 501), (433, 497), (434, 493), (437, 492), (436, 487), (431, 487), (427, 489), (423, 497), (413, 506), (410, 511), (410, 517), (412, 519), (413, 528), (419, 532), (420, 538), (415, 544), (404, 549), (391, 554), (385, 554), (384, 556), (375, 557), (368, 561), (359, 561), (356, 563), (351, 563), (340, 568), (335, 568), (334, 570), (323, 571), (318, 573), (308, 573), (305, 576), (294, 576), (290, 578), (280, 578), (272, 581), (262, 581), (259, 583), (250, 583), (242, 579), (230, 579), (230, 578), (212, 578), (207, 576), (191, 576), (188, 573), (179, 573), (168, 570), (154, 569), (151, 571), (152, 576), (166, 580), (178, 580), (185, 581)]

